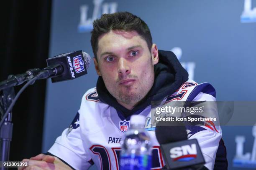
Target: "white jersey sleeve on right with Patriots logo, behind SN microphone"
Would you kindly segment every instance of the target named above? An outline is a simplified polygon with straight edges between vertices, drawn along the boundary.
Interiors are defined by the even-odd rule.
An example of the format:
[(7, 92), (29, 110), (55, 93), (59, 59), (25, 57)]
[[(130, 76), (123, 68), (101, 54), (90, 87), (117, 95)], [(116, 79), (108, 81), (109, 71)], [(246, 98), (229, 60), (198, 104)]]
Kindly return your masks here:
[[(192, 101), (212, 101), (210, 107), (206, 107), (204, 112), (210, 112), (212, 116), (215, 115), (218, 119), (218, 109), (215, 104), (215, 95), (198, 92)], [(206, 102), (205, 102), (206, 103)], [(202, 103), (201, 103), (202, 104)], [(207, 105), (208, 103), (206, 103)], [(194, 115), (197, 116), (197, 115)], [(188, 139), (197, 139), (202, 154), (205, 158), (205, 167), (213, 170), (215, 164), (215, 157), (219, 147), (219, 142), (222, 136), (221, 128), (213, 122), (201, 121), (195, 122), (186, 126)]]

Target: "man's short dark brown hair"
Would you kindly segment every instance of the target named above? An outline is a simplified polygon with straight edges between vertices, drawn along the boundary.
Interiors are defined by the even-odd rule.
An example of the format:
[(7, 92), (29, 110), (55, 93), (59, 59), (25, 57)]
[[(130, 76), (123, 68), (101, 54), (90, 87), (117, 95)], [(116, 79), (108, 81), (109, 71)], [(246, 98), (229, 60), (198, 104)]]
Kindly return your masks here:
[(137, 17), (128, 12), (119, 12), (113, 14), (103, 14), (100, 19), (93, 21), (93, 30), (91, 36), (91, 45), (94, 56), (97, 60), (98, 38), (100, 35), (110, 32), (111, 30), (136, 31), (143, 38), (151, 50), (152, 37), (148, 25)]

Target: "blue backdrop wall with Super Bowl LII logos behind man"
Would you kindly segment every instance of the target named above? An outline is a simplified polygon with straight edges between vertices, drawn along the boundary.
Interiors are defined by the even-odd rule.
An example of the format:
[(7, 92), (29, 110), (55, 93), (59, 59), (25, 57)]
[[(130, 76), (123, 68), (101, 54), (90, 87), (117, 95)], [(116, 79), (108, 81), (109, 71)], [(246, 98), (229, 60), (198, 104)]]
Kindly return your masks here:
[[(211, 83), (217, 100), (255, 100), (256, 0), (54, 0), (49, 56), (83, 50), (93, 57), (91, 21), (116, 11), (141, 17), (158, 48), (174, 51), (190, 78)], [(87, 71), (73, 81), (47, 82), (42, 152), (72, 122), (84, 92), (95, 87), (93, 63)], [(251, 153), (252, 126), (222, 129), (229, 169), (242, 169), (233, 167), (235, 138), (245, 136), (244, 152)]]

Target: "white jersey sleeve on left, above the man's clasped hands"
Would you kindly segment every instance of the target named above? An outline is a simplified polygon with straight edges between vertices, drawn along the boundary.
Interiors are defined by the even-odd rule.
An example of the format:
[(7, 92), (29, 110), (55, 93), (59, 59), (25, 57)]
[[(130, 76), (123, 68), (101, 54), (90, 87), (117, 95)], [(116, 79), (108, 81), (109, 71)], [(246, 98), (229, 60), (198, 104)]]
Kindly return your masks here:
[(62, 132), (48, 152), (61, 158), (76, 170), (88, 169), (92, 165), (91, 158), (84, 150), (80, 134), (78, 111), (72, 124)]

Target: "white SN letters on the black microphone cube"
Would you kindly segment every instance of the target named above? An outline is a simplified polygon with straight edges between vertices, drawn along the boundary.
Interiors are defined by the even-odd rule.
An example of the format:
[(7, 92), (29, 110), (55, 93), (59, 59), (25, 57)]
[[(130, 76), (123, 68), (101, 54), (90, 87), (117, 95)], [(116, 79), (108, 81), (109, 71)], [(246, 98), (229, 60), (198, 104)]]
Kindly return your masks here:
[(174, 147), (170, 150), (170, 157), (172, 159), (178, 160), (184, 155), (197, 155), (197, 146), (196, 144), (184, 145), (182, 147)]

